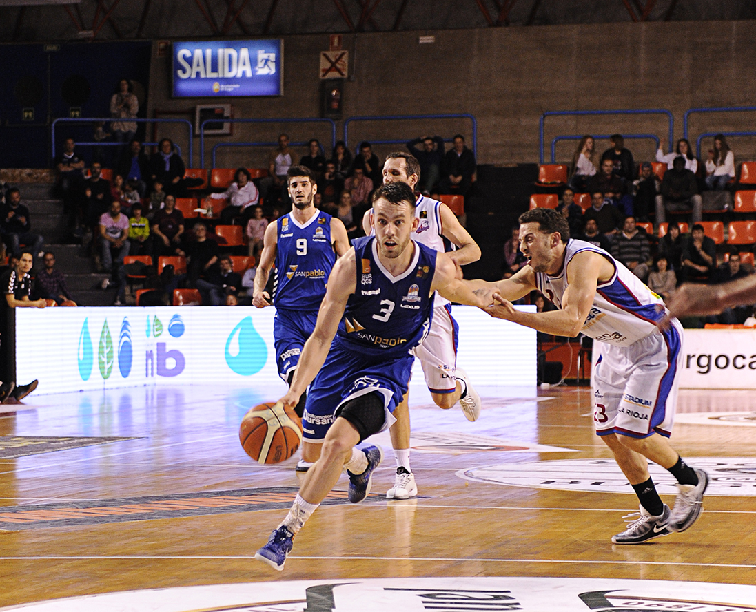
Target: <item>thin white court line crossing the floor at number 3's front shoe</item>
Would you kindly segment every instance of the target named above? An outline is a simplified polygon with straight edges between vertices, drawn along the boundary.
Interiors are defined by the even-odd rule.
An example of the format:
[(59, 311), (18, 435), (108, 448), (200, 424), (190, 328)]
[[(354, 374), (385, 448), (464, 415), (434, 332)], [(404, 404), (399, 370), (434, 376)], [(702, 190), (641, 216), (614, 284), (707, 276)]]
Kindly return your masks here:
[[(218, 561), (249, 561), (254, 559), (254, 555), (82, 555), (82, 556), (29, 556), (29, 557), (2, 557), (0, 561), (120, 561), (120, 560), (218, 560)], [(452, 562), (481, 562), (481, 563), (547, 563), (547, 564), (587, 564), (587, 565), (662, 565), (677, 567), (731, 567), (739, 569), (756, 569), (752, 564), (727, 564), (727, 563), (689, 563), (680, 561), (586, 561), (584, 559), (505, 559), (505, 558), (474, 558), (474, 557), (368, 557), (368, 556), (314, 556), (314, 555), (290, 555), (289, 559), (299, 559), (302, 561), (452, 561)]]

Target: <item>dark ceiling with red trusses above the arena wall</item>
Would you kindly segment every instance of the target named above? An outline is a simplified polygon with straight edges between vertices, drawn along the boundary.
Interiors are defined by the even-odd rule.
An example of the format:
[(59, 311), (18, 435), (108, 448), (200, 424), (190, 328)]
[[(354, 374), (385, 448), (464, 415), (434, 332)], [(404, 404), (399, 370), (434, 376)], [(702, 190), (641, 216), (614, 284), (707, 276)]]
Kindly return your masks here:
[(751, 0), (0, 0), (0, 41), (750, 19)]

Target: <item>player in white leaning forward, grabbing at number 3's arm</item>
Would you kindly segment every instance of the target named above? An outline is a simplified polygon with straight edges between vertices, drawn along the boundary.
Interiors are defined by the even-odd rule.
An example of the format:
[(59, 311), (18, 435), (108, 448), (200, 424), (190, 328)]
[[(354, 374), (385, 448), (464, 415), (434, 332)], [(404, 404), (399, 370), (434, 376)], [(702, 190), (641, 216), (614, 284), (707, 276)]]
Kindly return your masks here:
[[(682, 326), (665, 317), (662, 298), (608, 252), (569, 238), (569, 225), (553, 209), (533, 209), (519, 218), (520, 250), (528, 261), (497, 283), (471, 281), (491, 304), (492, 317), (539, 332), (575, 337), (584, 333), (600, 351), (593, 369), (593, 424), (640, 501), (640, 518), (612, 537), (615, 544), (640, 544), (688, 529), (701, 514), (708, 474), (691, 468), (668, 437), (682, 365)], [(525, 313), (511, 301), (538, 289), (558, 310)], [(669, 508), (658, 496), (648, 462), (677, 480)]]

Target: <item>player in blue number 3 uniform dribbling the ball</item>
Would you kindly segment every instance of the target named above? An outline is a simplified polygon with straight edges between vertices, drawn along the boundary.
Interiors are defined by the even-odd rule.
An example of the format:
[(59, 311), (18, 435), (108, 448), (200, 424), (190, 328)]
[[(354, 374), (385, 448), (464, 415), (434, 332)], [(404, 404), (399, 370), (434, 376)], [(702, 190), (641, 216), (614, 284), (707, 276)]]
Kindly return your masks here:
[[(375, 445), (357, 447), (392, 424), (407, 392), (411, 349), (428, 333), (435, 291), (483, 307), (448, 255), (412, 240), (415, 196), (404, 183), (382, 185), (373, 196), (375, 236), (355, 240), (333, 267), (314, 332), (305, 343), (289, 392), (294, 406), (310, 385), (302, 419), (305, 439), (322, 443), (289, 514), (255, 558), (283, 570), (293, 538), (339, 480), (349, 474), (349, 501), (370, 492), (383, 459)], [(334, 339), (335, 337), (335, 339)]]

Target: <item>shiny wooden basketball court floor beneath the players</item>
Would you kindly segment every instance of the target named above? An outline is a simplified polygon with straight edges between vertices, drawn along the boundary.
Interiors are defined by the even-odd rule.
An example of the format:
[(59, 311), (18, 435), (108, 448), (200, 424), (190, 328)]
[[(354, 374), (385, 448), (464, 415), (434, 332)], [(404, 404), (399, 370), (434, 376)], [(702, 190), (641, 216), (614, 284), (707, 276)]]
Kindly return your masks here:
[[(130, 589), (346, 577), (756, 584), (756, 498), (741, 494), (756, 481), (752, 393), (681, 392), (672, 440), (683, 457), (694, 465), (699, 457), (753, 463), (723, 462), (713, 480), (725, 488), (707, 496), (699, 522), (642, 546), (610, 541), (637, 501), (600, 488), (609, 478), (602, 459), (610, 455), (593, 434), (587, 388), (482, 388), (476, 423), (417, 395), (412, 462), (420, 496), (385, 499), (395, 464), (383, 434), (387, 456), (373, 479), (375, 495), (360, 505), (343, 502), (342, 477), (333, 505), (313, 515), (277, 573), (253, 555), (287, 512), (299, 483), (294, 461), (257, 465), (243, 453), (237, 431), (250, 406), (280, 391), (32, 395), (24, 410), (0, 416), (6, 453), (0, 459), (0, 606)], [(730, 420), (682, 422), (719, 412)], [(740, 421), (732, 416), (738, 412), (745, 413)], [(94, 440), (104, 437), (125, 439)], [(104, 444), (28, 454), (45, 443), (41, 438)], [(24, 456), (10, 457), (14, 448)], [(463, 478), (490, 466), (498, 471), (485, 473), (507, 474), (503, 484)], [(539, 474), (542, 468), (552, 475)], [(524, 480), (507, 484), (513, 478)], [(670, 491), (671, 477), (662, 480)], [(570, 490), (578, 481), (589, 490)], [(673, 498), (664, 499), (671, 504)]]

